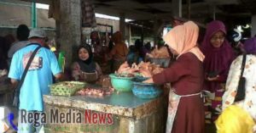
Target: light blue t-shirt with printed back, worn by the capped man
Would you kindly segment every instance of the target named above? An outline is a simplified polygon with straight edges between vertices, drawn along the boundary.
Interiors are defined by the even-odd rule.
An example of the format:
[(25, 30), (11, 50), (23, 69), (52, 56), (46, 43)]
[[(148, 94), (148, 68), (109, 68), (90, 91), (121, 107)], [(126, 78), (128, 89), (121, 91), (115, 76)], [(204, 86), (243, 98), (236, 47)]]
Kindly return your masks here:
[[(30, 44), (17, 51), (11, 62), (9, 78), (20, 80), (28, 59), (38, 44)], [(49, 94), (52, 74), (61, 73), (55, 54), (41, 47), (33, 58), (20, 88), (20, 109), (44, 111), (43, 95)]]

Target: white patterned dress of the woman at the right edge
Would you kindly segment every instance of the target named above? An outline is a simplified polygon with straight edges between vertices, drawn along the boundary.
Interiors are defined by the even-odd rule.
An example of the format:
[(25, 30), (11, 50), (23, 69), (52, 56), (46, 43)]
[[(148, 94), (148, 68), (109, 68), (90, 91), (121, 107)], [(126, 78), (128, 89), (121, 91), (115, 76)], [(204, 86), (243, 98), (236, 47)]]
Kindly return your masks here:
[[(237, 57), (230, 66), (230, 73), (223, 96), (223, 109), (234, 103), (236, 89), (241, 75), (242, 56)], [(246, 97), (243, 101), (234, 103), (247, 110), (256, 121), (256, 56), (247, 55), (243, 76), (246, 78)]]

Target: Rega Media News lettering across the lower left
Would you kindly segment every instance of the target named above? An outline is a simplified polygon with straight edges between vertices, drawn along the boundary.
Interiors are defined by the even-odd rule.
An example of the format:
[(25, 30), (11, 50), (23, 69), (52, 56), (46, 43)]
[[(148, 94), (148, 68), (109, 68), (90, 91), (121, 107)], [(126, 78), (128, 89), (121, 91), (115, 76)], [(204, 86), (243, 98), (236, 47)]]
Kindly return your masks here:
[(58, 109), (50, 109), (47, 115), (44, 112), (27, 112), (21, 110), (21, 123), (30, 123), (35, 127), (41, 124), (84, 124), (84, 125), (113, 125), (113, 114), (97, 113), (85, 110), (84, 113), (75, 109), (60, 112)]

